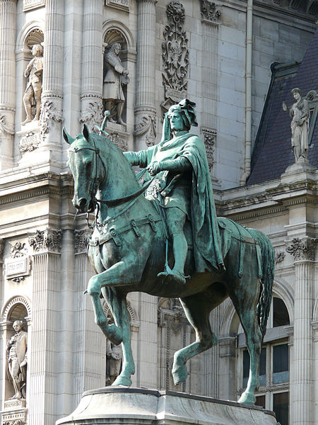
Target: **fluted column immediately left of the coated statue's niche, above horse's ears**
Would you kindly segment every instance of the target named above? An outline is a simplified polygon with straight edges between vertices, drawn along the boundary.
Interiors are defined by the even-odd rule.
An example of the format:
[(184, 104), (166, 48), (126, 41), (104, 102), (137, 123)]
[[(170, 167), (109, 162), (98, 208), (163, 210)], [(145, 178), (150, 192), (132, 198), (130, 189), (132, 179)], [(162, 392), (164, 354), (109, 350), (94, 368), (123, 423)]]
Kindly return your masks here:
[(84, 0), (80, 123), (91, 130), (102, 123), (102, 8), (101, 0)]

